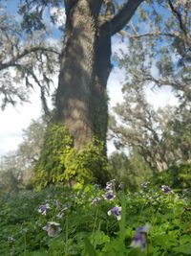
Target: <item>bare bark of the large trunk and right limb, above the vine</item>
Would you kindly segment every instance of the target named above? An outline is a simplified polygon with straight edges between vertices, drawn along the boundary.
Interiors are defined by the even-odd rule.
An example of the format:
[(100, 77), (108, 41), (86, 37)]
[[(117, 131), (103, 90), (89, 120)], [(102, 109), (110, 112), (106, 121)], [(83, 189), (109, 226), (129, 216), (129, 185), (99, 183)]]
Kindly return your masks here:
[[(111, 36), (128, 22), (142, 0), (100, 15), (103, 0), (66, 0), (66, 29), (55, 95), (56, 121), (74, 137), (78, 151), (96, 137), (106, 143), (106, 84), (111, 72)], [(113, 9), (114, 11), (114, 9)]]

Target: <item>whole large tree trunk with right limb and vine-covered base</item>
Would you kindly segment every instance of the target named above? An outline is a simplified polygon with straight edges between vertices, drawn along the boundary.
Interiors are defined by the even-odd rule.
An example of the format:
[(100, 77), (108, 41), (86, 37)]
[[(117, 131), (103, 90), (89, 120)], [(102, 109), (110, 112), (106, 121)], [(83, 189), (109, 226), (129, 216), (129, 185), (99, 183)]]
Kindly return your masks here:
[(99, 184), (107, 180), (106, 84), (111, 71), (111, 36), (141, 2), (129, 0), (116, 16), (108, 15), (107, 8), (106, 16), (100, 14), (101, 6), (111, 6), (112, 0), (65, 0), (67, 20), (55, 93), (54, 122), (59, 126), (48, 129), (36, 167), (38, 187), (75, 177), (95, 178)]

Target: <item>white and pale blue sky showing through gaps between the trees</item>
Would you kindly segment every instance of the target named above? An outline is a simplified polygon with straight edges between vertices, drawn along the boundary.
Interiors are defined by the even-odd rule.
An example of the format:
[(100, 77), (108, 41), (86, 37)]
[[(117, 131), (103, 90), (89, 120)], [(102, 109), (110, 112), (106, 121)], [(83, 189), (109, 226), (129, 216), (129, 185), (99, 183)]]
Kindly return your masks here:
[[(8, 3), (12, 2), (9, 1)], [(13, 5), (9, 9), (11, 12), (15, 12)], [(57, 11), (54, 9), (52, 12)], [(65, 16), (63, 16), (63, 19), (58, 20), (58, 26), (65, 21)], [(126, 48), (125, 42), (121, 42), (119, 38), (116, 38), (113, 43), (113, 52), (119, 53), (120, 48), (123, 50)], [(122, 81), (124, 81), (124, 71), (114, 67), (108, 81), (109, 109), (116, 105), (117, 102), (122, 101)], [(155, 90), (148, 88), (146, 96), (156, 109), (159, 106), (175, 105), (177, 103), (170, 87), (156, 88)], [(41, 115), (41, 103), (37, 91), (32, 92), (30, 100), (31, 103), (16, 105), (15, 107), (9, 105), (4, 111), (0, 110), (0, 155), (15, 151), (18, 144), (22, 142), (22, 130), (29, 127), (32, 119), (37, 119)], [(109, 144), (108, 151), (109, 153), (114, 151), (112, 144)]]

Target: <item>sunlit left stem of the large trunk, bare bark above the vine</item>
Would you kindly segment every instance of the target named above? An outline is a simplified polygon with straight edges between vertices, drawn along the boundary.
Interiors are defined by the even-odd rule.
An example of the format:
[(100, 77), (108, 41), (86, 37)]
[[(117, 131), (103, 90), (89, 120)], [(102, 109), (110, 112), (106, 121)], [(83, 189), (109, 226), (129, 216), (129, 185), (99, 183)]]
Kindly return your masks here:
[(80, 149), (94, 135), (91, 90), (94, 77), (96, 24), (87, 1), (68, 13), (60, 75), (55, 96), (57, 121), (63, 122)]

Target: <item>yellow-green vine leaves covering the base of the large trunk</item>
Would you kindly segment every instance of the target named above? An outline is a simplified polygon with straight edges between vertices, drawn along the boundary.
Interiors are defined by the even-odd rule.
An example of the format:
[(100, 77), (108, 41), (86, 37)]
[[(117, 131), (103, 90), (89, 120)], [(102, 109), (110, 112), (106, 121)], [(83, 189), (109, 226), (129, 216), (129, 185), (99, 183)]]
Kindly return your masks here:
[(45, 134), (43, 151), (35, 170), (37, 189), (64, 181), (83, 184), (98, 180), (102, 184), (108, 176), (104, 145), (95, 139), (83, 151), (76, 151), (67, 128), (51, 125)]

